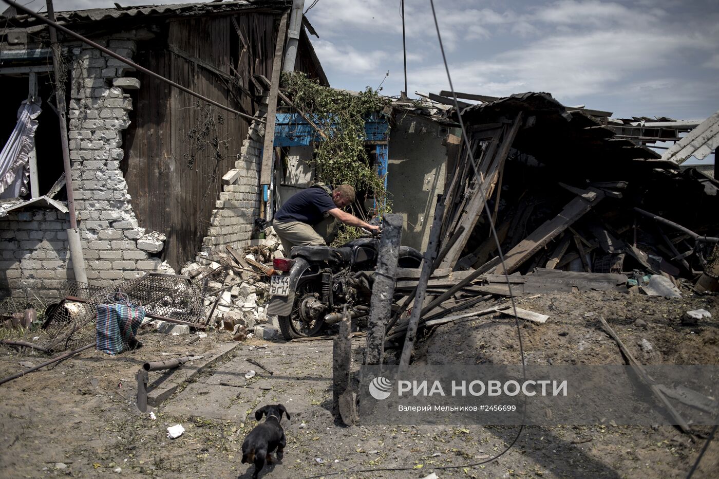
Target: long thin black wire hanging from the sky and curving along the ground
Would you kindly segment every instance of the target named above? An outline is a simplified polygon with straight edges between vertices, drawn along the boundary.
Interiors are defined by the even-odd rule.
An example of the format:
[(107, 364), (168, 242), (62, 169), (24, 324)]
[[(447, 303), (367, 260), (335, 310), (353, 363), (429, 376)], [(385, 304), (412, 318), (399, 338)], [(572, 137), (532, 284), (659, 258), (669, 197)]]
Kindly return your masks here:
[[(442, 37), (441, 37), (441, 33), (439, 32), (439, 23), (437, 22), (437, 15), (436, 15), (436, 12), (434, 9), (434, 0), (429, 0), (429, 3), (431, 4), (431, 7), (432, 7), (432, 16), (434, 17), (434, 26), (436, 27), (436, 30), (437, 30), (437, 40), (439, 41), (439, 49), (441, 50), (441, 53), (442, 53), (442, 60), (444, 61), (444, 69), (446, 70), (447, 80), (449, 81), (449, 89), (452, 91), (452, 98), (454, 99), (454, 107), (457, 110), (457, 117), (459, 118), (459, 127), (462, 129), (462, 138), (464, 139), (464, 144), (465, 144), (465, 147), (467, 148), (467, 155), (469, 156), (470, 161), (472, 163), (472, 168), (474, 168), (475, 175), (477, 176), (477, 182), (480, 186), (478, 189), (480, 191), (480, 194), (482, 195), (482, 200), (485, 203), (485, 211), (487, 213), (488, 222), (490, 224), (492, 236), (495, 239), (495, 245), (497, 245), (498, 254), (499, 254), (499, 258), (500, 258), (500, 264), (502, 265), (502, 268), (504, 270), (504, 276), (505, 276), (505, 280), (507, 282), (507, 288), (509, 290), (509, 298), (512, 303), (512, 310), (514, 311), (514, 323), (517, 328), (517, 336), (519, 338), (519, 354), (520, 354), (520, 358), (521, 358), (521, 362), (522, 362), (522, 376), (523, 376), (523, 380), (526, 381), (527, 376), (526, 376), (526, 365), (524, 364), (524, 346), (523, 346), (523, 342), (522, 342), (522, 332), (521, 332), (521, 328), (519, 326), (519, 319), (517, 317), (517, 304), (514, 299), (514, 294), (512, 292), (512, 286), (511, 286), (511, 283), (509, 280), (509, 275), (507, 273), (507, 268), (505, 267), (504, 254), (502, 252), (499, 238), (497, 236), (497, 230), (495, 229), (494, 222), (492, 221), (492, 211), (490, 211), (489, 205), (487, 204), (487, 197), (485, 196), (485, 192), (482, 189), (484, 181), (479, 173), (479, 171), (480, 171), (479, 168), (477, 168), (475, 158), (472, 155), (472, 148), (470, 147), (470, 140), (467, 137), (467, 129), (464, 127), (464, 122), (462, 121), (462, 115), (460, 114), (460, 110), (459, 110), (459, 103), (457, 101), (457, 94), (454, 92), (454, 86), (452, 85), (452, 76), (449, 73), (449, 65), (447, 64), (446, 55), (444, 53), (444, 45), (442, 44)], [(522, 424), (521, 424), (521, 426), (519, 426), (519, 431), (517, 432), (516, 437), (514, 437), (512, 442), (510, 442), (510, 444), (507, 447), (505, 447), (505, 450), (500, 452), (498, 455), (495, 455), (494, 457), (490, 457), (489, 459), (486, 459), (486, 460), (482, 460), (480, 462), (472, 462), (470, 464), (462, 464), (462, 465), (454, 465), (454, 466), (435, 466), (435, 467), (433, 467), (433, 469), (446, 470), (446, 469), (459, 469), (460, 467), (474, 467), (477, 465), (486, 464), (487, 462), (492, 462), (493, 460), (497, 460), (499, 457), (505, 455), (510, 449), (512, 449), (514, 444), (516, 444), (519, 437), (521, 437), (522, 431), (524, 430), (524, 426), (525, 426), (524, 423), (525, 423), (526, 415), (527, 415), (526, 403), (527, 403), (527, 398), (526, 398), (526, 396), (524, 396), (524, 408), (522, 410)], [(702, 454), (703, 454), (703, 452), (702, 452)], [(701, 458), (701, 456), (700, 456), (700, 458)], [(698, 464), (698, 460), (697, 460), (697, 464)], [(338, 474), (375, 473), (375, 472), (380, 472), (380, 471), (413, 470), (413, 469), (414, 469), (413, 466), (411, 466), (411, 467), (380, 467), (380, 468), (376, 468), (376, 469), (350, 470), (347, 472), (343, 471), (341, 473), (340, 472), (325, 473), (325, 474), (313, 475), (313, 476), (310, 476), (310, 477), (304, 478), (304, 479), (316, 479), (316, 478), (326, 477), (329, 475), (338, 475)]]

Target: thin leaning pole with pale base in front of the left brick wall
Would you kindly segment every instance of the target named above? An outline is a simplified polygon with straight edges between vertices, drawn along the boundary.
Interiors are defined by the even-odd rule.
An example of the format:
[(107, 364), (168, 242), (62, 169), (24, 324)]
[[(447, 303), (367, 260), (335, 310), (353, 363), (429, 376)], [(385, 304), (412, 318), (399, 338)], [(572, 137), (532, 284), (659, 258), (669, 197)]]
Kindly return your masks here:
[[(55, 22), (55, 9), (52, 0), (47, 0), (47, 19)], [(58, 102), (58, 116), (60, 117), (60, 142), (63, 145), (63, 166), (65, 167), (65, 189), (68, 191), (68, 210), (70, 215), (70, 229), (67, 230), (68, 242), (70, 243), (70, 260), (73, 262), (75, 281), (87, 283), (88, 275), (85, 271), (85, 258), (80, 245), (80, 230), (78, 229), (78, 217), (75, 214), (75, 193), (73, 193), (73, 172), (70, 165), (70, 145), (68, 145), (68, 108), (65, 105), (65, 81), (63, 70), (60, 65), (60, 44), (58, 43), (58, 32), (55, 27), (49, 25), (50, 44), (52, 45), (52, 69), (55, 71), (55, 99)]]

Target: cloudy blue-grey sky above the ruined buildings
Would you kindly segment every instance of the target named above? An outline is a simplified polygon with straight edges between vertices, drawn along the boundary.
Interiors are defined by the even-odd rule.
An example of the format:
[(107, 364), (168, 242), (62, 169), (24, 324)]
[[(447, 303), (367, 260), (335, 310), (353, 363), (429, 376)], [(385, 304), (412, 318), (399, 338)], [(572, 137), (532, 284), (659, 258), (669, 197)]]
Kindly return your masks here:
[[(112, 4), (55, 0), (55, 9)], [(311, 4), (305, 0), (305, 8)], [(435, 6), (457, 91), (547, 91), (563, 104), (615, 117), (697, 119), (719, 109), (716, 0), (435, 0)], [(318, 0), (307, 17), (320, 35), (313, 45), (332, 86), (377, 88), (384, 80), (383, 93), (403, 90), (400, 0)], [(449, 89), (429, 0), (406, 0), (405, 19), (410, 96)]]

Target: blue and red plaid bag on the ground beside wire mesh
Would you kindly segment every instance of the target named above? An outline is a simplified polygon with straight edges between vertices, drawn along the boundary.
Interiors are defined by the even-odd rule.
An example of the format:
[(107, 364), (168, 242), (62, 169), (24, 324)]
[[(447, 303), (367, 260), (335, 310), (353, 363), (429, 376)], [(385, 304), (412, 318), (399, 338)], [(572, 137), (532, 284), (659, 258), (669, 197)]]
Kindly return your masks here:
[(142, 346), (135, 339), (142, 319), (145, 319), (145, 309), (133, 304), (98, 304), (97, 349), (114, 356)]

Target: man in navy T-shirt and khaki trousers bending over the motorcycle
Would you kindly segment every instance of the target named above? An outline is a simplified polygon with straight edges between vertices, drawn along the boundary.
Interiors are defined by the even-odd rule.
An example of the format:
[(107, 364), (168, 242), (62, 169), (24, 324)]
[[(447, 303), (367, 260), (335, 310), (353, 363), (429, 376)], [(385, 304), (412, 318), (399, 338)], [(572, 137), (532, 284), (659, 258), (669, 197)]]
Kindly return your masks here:
[(354, 188), (340, 185), (331, 189), (316, 183), (292, 198), (275, 213), (273, 227), (282, 240), (285, 256), (293, 246), (326, 246), (336, 235), (336, 220), (349, 226), (379, 231), (380, 227), (363, 222), (342, 208), (354, 201)]

